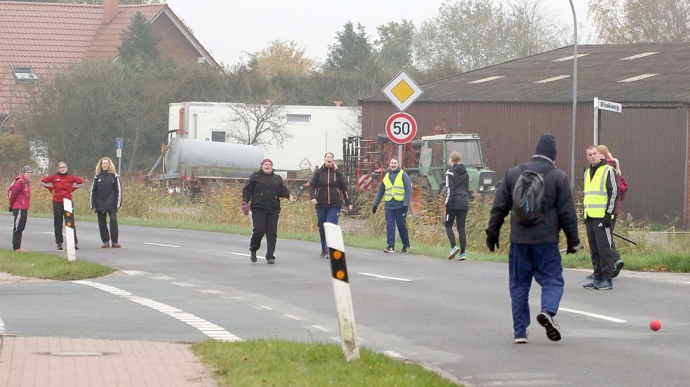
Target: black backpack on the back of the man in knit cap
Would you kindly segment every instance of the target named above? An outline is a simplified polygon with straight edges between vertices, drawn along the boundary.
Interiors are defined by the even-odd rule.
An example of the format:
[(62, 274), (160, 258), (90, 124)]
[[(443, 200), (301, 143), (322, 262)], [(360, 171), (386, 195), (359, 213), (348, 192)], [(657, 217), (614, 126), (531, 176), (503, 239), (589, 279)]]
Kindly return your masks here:
[(544, 177), (545, 175), (533, 170), (523, 170), (517, 178), (512, 189), (512, 217), (515, 217), (518, 224), (533, 226), (542, 221), (544, 217)]

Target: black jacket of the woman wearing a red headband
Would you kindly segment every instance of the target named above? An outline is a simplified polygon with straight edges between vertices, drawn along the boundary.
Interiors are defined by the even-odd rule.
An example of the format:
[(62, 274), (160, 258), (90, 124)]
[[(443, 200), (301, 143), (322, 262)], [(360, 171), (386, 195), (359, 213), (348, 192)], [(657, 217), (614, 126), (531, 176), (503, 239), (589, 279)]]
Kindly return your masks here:
[(273, 171), (254, 172), (242, 189), (242, 201), (249, 203), (249, 208), (280, 210), (280, 198), (289, 197), (290, 191), (283, 183), (283, 178)]

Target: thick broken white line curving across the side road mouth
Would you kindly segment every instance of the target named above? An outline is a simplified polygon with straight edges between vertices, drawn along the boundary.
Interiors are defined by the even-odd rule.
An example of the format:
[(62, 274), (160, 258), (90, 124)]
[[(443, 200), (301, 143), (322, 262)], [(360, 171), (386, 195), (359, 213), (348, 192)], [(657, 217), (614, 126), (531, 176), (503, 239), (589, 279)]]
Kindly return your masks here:
[[(104, 285), (102, 283), (95, 283), (88, 280), (78, 280), (71, 282), (78, 283), (80, 285), (95, 287), (98, 290), (103, 290), (104, 292), (109, 292), (110, 294), (114, 294), (124, 299), (136, 302), (137, 304), (152, 308), (155, 311), (159, 311), (161, 313), (171, 316), (172, 318), (180, 320), (181, 322), (185, 322), (185, 324), (190, 325), (190, 327), (196, 328), (197, 330), (199, 330), (199, 332), (205, 334), (208, 337), (211, 337), (211, 339), (217, 339), (221, 341), (242, 341), (240, 337), (237, 337), (234, 334), (227, 332), (225, 329), (223, 329), (223, 327), (219, 327), (218, 325), (213, 324), (213, 322), (208, 322), (203, 318), (199, 318), (190, 313), (180, 311), (180, 309), (175, 308), (174, 306), (161, 304), (158, 301), (154, 301), (152, 299), (147, 299), (144, 297), (137, 297), (131, 294), (130, 292), (127, 292), (126, 290), (121, 290), (117, 287)], [(2, 321), (0, 320), (0, 325), (1, 322)]]

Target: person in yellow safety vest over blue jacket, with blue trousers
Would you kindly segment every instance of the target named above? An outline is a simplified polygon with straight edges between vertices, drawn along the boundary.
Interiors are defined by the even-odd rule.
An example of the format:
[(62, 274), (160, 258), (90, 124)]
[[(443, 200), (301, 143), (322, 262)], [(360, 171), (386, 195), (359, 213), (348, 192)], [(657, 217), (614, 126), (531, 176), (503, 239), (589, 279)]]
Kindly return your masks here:
[(388, 172), (383, 177), (383, 184), (378, 187), (378, 194), (373, 201), (371, 212), (376, 214), (381, 198), (385, 201), (386, 218), (386, 243), (383, 252), (395, 252), (395, 227), (398, 228), (400, 239), (402, 240), (402, 250), (407, 253), (410, 251), (410, 236), (407, 231), (407, 209), (410, 207), (410, 196), (412, 194), (412, 182), (407, 172), (399, 167), (398, 159), (391, 158), (388, 163)]

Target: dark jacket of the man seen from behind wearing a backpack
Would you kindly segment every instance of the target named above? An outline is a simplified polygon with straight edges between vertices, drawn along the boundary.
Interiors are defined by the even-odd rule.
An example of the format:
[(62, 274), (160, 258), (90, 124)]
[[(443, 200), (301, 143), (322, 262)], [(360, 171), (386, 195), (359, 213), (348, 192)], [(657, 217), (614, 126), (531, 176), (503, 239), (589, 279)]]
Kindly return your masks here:
[(558, 243), (559, 231), (563, 229), (568, 245), (578, 245), (578, 219), (568, 177), (541, 156), (534, 156), (529, 163), (517, 165), (505, 173), (503, 182), (496, 189), (496, 197), (493, 198), (487, 233), (500, 233), (503, 220), (512, 208), (513, 186), (525, 167), (544, 175), (544, 219), (533, 226), (524, 226), (511, 217), (510, 242), (526, 245)]

